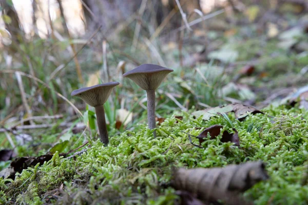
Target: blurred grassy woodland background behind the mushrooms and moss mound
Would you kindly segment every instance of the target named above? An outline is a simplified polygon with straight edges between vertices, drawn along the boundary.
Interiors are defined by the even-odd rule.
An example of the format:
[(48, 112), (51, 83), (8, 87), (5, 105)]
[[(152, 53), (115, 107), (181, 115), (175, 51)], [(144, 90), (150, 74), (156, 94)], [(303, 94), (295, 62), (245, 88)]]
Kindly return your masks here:
[(144, 63), (175, 70), (157, 90), (158, 120), (228, 103), (276, 106), (298, 88), (307, 91), (305, 0), (0, 6), (0, 147), (17, 146), (20, 156), (46, 153), (60, 140), (78, 148), (94, 137), (93, 109), (70, 96), (81, 87), (120, 82), (105, 104), (111, 136), (145, 123), (145, 92), (122, 79)]

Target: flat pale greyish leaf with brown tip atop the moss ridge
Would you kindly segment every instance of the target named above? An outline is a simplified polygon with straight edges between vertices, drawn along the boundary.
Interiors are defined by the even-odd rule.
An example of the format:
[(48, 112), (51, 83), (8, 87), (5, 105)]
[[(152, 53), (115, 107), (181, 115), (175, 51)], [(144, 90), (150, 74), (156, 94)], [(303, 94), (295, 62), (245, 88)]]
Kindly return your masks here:
[(199, 110), (196, 112), (191, 113), (192, 115), (194, 115), (195, 117), (200, 117), (202, 116), (202, 119), (204, 120), (208, 120), (210, 117), (213, 116), (217, 116), (220, 113), (229, 113), (229, 112), (234, 112), (235, 113), (235, 117), (242, 121), (244, 120), (247, 115), (249, 113), (251, 114), (257, 114), (257, 113), (262, 113), (260, 110), (258, 110), (257, 108), (254, 108), (252, 106), (245, 106), (242, 104), (229, 104), (226, 106), (221, 106), (221, 107), (214, 107), (214, 108), (207, 108), (204, 110)]

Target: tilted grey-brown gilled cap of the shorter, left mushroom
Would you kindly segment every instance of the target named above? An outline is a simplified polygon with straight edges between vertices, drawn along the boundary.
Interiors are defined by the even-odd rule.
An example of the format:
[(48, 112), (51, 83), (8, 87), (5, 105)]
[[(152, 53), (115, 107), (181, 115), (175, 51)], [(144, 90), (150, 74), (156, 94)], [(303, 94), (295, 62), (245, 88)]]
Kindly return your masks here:
[(78, 96), (88, 105), (97, 107), (103, 105), (107, 101), (109, 95), (111, 94), (112, 88), (114, 86), (118, 86), (119, 84), (119, 82), (110, 82), (91, 87), (80, 88), (78, 90), (74, 90), (71, 93), (71, 96)]

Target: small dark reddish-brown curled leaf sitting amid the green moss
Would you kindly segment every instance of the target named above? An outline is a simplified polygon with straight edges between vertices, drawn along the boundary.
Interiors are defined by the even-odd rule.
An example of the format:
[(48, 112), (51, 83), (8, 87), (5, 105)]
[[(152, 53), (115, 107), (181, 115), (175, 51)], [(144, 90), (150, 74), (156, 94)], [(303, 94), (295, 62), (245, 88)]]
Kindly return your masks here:
[[(203, 130), (197, 136), (197, 138), (199, 138), (199, 144), (201, 145), (201, 143), (206, 140), (207, 133), (209, 133), (210, 139), (215, 139), (220, 134), (220, 130), (222, 128), (223, 128), (223, 126), (221, 126), (221, 125), (213, 125), (213, 126), (211, 126), (209, 128), (206, 128), (205, 130)], [(235, 133), (229, 133), (228, 131), (225, 130), (222, 133), (221, 141), (222, 142), (228, 142), (228, 141), (234, 142), (234, 144), (236, 146), (240, 146), (240, 140), (239, 140), (238, 131), (236, 129), (233, 129), (233, 131)]]

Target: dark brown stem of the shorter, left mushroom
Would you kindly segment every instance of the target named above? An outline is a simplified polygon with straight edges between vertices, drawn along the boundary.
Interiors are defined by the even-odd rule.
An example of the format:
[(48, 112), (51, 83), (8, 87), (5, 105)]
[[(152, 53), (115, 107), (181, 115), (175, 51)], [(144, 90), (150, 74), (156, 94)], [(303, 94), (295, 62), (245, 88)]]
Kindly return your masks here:
[(104, 106), (101, 105), (101, 106), (95, 107), (95, 113), (97, 114), (97, 121), (98, 121), (101, 142), (103, 142), (104, 145), (107, 146), (109, 139), (108, 139), (107, 126), (106, 126)]

